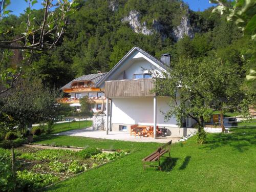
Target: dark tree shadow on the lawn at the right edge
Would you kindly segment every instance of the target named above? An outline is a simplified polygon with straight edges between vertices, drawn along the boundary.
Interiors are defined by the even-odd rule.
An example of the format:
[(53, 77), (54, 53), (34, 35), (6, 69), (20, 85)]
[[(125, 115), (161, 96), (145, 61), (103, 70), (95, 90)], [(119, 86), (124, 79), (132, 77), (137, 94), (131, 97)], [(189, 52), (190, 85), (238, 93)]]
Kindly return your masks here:
[(243, 153), (252, 145), (256, 144), (256, 128), (239, 127), (231, 129), (231, 133), (211, 134), (207, 138), (206, 144), (201, 148), (214, 150), (221, 146), (231, 146)]

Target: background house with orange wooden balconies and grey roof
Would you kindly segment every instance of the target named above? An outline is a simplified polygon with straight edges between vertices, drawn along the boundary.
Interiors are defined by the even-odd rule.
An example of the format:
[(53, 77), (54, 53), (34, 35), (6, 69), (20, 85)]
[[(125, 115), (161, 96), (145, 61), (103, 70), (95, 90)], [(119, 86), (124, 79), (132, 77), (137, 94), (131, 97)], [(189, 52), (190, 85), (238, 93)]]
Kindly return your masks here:
[(70, 103), (71, 106), (75, 106), (79, 111), (81, 106), (79, 99), (88, 96), (95, 101), (95, 106), (92, 109), (93, 112), (103, 111), (105, 102), (104, 92), (96, 87), (96, 84), (105, 75), (106, 73), (98, 72), (97, 74), (83, 75), (70, 81), (66, 86), (61, 88), (62, 91), (68, 93), (70, 97), (62, 98), (60, 101)]

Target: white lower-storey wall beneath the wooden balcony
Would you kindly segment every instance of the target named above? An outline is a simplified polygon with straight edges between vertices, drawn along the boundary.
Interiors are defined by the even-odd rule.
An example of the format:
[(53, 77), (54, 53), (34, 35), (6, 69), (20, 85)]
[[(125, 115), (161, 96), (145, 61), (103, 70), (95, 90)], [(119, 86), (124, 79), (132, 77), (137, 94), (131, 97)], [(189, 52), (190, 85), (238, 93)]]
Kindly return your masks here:
[[(166, 112), (168, 97), (157, 98), (157, 125), (178, 127), (176, 118), (167, 122), (160, 110)], [(153, 97), (146, 98), (113, 98), (112, 123), (153, 125)]]

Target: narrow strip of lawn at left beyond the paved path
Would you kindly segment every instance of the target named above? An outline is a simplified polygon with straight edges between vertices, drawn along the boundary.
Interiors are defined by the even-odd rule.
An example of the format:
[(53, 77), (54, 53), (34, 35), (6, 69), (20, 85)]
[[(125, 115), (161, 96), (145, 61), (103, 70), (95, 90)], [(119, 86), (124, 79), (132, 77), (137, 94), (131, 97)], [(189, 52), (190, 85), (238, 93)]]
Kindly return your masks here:
[(53, 134), (71, 130), (78, 130), (89, 126), (92, 126), (92, 121), (80, 121), (80, 123), (79, 121), (56, 123), (54, 124)]

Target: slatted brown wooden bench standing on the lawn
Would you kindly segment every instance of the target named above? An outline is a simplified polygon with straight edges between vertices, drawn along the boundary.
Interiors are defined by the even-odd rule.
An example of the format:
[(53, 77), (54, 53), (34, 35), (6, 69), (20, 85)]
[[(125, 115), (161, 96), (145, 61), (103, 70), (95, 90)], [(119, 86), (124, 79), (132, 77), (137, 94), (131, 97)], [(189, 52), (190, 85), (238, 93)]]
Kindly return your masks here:
[[(166, 158), (170, 158), (170, 144), (172, 144), (172, 140), (169, 141), (168, 143), (165, 143), (163, 146), (159, 147), (157, 149), (157, 151), (155, 151), (154, 153), (152, 153), (149, 156), (142, 159), (142, 161), (144, 163), (144, 166), (143, 166), (144, 170), (145, 170), (146, 166), (154, 166), (154, 167), (159, 167), (159, 169), (162, 171), (162, 168), (160, 166), (160, 157), (165, 157), (163, 155), (165, 153), (169, 153), (169, 157), (166, 157)], [(154, 161), (158, 161), (158, 166), (156, 166), (156, 165), (146, 165), (146, 162), (154, 162)]]

